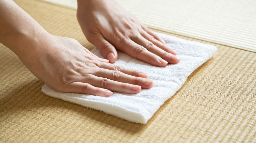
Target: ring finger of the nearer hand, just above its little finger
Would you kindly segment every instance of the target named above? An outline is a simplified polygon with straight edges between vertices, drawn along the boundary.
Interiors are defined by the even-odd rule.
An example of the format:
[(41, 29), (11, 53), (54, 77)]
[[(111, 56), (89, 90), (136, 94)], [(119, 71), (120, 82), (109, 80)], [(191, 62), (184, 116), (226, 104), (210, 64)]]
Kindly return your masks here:
[(138, 85), (132, 85), (128, 83), (122, 83), (118, 81), (113, 81), (107, 78), (98, 77), (93, 74), (87, 77), (87, 81), (89, 84), (100, 87), (104, 89), (108, 89), (114, 92), (122, 92), (128, 94), (135, 94), (141, 91), (141, 87)]

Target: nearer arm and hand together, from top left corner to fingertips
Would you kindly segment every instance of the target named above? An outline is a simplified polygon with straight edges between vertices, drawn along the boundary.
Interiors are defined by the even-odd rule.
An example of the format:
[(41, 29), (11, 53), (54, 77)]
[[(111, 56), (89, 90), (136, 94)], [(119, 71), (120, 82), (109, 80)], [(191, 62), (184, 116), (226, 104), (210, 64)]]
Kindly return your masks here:
[(11, 0), (0, 1), (0, 42), (40, 80), (60, 92), (109, 97), (153, 86), (141, 71), (101, 59), (78, 41), (49, 34)]

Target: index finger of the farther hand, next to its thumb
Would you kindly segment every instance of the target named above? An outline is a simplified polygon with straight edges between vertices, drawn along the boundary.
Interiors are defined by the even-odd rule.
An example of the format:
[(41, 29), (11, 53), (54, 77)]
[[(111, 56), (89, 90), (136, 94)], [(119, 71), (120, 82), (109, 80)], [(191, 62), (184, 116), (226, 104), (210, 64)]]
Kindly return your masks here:
[(135, 43), (132, 40), (126, 40), (124, 43), (125, 47), (120, 48), (122, 52), (133, 56), (139, 60), (142, 60), (144, 62), (147, 62), (153, 66), (158, 67), (165, 67), (167, 66), (168, 62), (163, 60), (160, 56), (157, 56), (153, 54), (152, 52), (149, 52), (146, 48), (143, 46)]

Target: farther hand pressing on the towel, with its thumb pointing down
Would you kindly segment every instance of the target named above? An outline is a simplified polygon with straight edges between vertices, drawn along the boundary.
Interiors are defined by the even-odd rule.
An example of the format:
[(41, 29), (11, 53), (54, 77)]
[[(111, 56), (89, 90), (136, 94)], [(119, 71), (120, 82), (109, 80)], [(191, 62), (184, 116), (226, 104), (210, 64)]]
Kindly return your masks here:
[(116, 49), (159, 67), (180, 61), (164, 40), (114, 0), (77, 3), (77, 19), (85, 37), (110, 63), (117, 60)]

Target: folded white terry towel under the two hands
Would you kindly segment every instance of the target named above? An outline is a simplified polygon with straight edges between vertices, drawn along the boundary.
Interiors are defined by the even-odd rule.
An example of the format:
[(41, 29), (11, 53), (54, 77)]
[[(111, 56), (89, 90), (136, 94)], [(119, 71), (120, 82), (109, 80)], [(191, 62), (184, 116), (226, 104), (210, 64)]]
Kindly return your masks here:
[[(100, 110), (106, 114), (126, 119), (131, 122), (145, 124), (160, 108), (160, 106), (178, 91), (187, 77), (200, 65), (206, 62), (217, 48), (213, 45), (188, 41), (159, 33), (167, 45), (177, 51), (181, 58), (178, 64), (168, 64), (160, 68), (118, 51), (115, 64), (143, 71), (153, 80), (154, 86), (142, 89), (138, 94), (124, 94), (114, 92), (111, 97), (100, 97), (74, 93), (61, 93), (49, 86), (42, 87), (42, 91), (54, 98), (80, 104), (85, 107)], [(91, 51), (102, 57), (96, 48)], [(184, 95), (185, 96), (185, 95)]]

